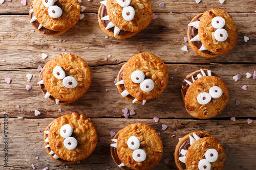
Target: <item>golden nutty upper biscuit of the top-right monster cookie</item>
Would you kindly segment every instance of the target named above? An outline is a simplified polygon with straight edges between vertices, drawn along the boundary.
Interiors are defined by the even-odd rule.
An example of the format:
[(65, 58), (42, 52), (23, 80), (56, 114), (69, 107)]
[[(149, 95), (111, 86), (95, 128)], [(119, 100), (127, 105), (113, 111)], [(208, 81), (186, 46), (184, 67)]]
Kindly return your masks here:
[[(215, 17), (222, 17), (225, 22), (223, 23), (224, 27), (222, 27), (221, 29), (226, 30), (227, 39), (222, 42), (216, 40), (217, 35), (215, 34), (217, 31), (220, 31), (217, 23), (220, 24), (221, 21), (217, 20), (217, 23), (214, 22), (215, 25), (217, 25), (214, 25), (215, 28), (212, 26), (211, 23), (212, 19), (214, 19)], [(221, 32), (220, 38), (223, 38), (225, 36), (224, 33), (225, 31)], [(238, 29), (236, 24), (234, 23), (232, 17), (222, 9), (211, 9), (209, 11), (206, 11), (202, 15), (198, 27), (198, 34), (204, 47), (207, 48), (207, 50), (209, 50), (210, 52), (217, 55), (230, 52), (234, 45), (236, 45), (238, 39)]]

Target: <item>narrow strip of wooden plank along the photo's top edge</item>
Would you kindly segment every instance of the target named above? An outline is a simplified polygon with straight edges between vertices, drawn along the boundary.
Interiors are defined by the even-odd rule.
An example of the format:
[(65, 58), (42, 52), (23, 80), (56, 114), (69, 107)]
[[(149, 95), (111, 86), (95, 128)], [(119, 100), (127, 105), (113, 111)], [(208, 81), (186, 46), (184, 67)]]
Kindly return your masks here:
[[(94, 0), (88, 2), (83, 0), (81, 6), (85, 6), (87, 9), (84, 12), (97, 13), (99, 9), (99, 2), (101, 0)], [(12, 2), (5, 1), (1, 5), (0, 14), (28, 14), (29, 7), (32, 0), (27, 1), (27, 5), (24, 6), (20, 3), (20, 0), (13, 0)], [(165, 3), (165, 7), (161, 8), (159, 4), (161, 2)], [(227, 12), (251, 12), (255, 11), (255, 2), (253, 0), (244, 0), (236, 1), (229, 0), (224, 4), (220, 4), (219, 0), (213, 1), (201, 1), (200, 4), (197, 4), (195, 0), (168, 0), (168, 1), (157, 1), (151, 0), (153, 12), (165, 12), (169, 13), (170, 11), (174, 13), (194, 13), (194, 12), (205, 12), (211, 8), (221, 8), (225, 9)]]

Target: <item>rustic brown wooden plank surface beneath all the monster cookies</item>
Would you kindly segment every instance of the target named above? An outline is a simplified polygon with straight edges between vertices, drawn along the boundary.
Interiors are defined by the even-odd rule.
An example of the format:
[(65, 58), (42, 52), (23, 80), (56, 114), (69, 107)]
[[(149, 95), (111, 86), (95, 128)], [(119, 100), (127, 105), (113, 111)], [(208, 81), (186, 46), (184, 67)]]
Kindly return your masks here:
[[(118, 132), (131, 123), (145, 123), (154, 127), (163, 139), (164, 153), (161, 161), (154, 169), (177, 169), (173, 153), (178, 138), (185, 134), (202, 130), (224, 142), (227, 160), (224, 169), (256, 169), (256, 120), (247, 124), (247, 118), (256, 118), (255, 82), (246, 78), (246, 72), (256, 70), (256, 3), (254, 0), (202, 0), (196, 4), (194, 0), (152, 0), (153, 12), (158, 18), (153, 19), (150, 26), (141, 33), (124, 40), (105, 38), (97, 21), (99, 1), (88, 2), (83, 12), (84, 18), (57, 37), (43, 36), (34, 30), (29, 23), (29, 6), (32, 0), (24, 6), (20, 0), (5, 1), (0, 4), (0, 155), (1, 169), (36, 169), (46, 166), (52, 169), (67, 169), (66, 165), (52, 160), (44, 149), (43, 133), (45, 127), (61, 115), (78, 111), (92, 118), (97, 128), (98, 137), (105, 137), (104, 142), (98, 141), (92, 155), (80, 163), (69, 165), (69, 169), (119, 169), (110, 155), (110, 132)], [(165, 8), (159, 7), (161, 2)], [(211, 8), (221, 8), (229, 12), (238, 27), (238, 42), (234, 49), (225, 55), (212, 59), (198, 56), (184, 42), (187, 23), (198, 13)], [(172, 11), (172, 13), (170, 13)], [(250, 40), (244, 42), (243, 37)], [(59, 39), (66, 40), (60, 42)], [(54, 45), (54, 48), (52, 48)], [(183, 45), (188, 46), (188, 53), (181, 51)], [(59, 47), (60, 51), (55, 50)], [(88, 47), (88, 48), (86, 48)], [(88, 92), (79, 100), (67, 105), (56, 106), (50, 100), (45, 100), (38, 85), (39, 72), (37, 67), (44, 66), (49, 60), (64, 53), (73, 53), (88, 62), (92, 71), (92, 84)], [(150, 52), (159, 56), (167, 65), (169, 83), (159, 98), (145, 106), (129, 103), (122, 99), (113, 81), (124, 62), (137, 53)], [(41, 59), (41, 54), (48, 58)], [(108, 58), (111, 55), (111, 58)], [(108, 58), (108, 60), (104, 60)], [(3, 61), (5, 60), (5, 61)], [(215, 71), (227, 84), (230, 99), (221, 115), (209, 120), (198, 120), (191, 117), (184, 108), (180, 94), (181, 81), (187, 74), (200, 68)], [(32, 74), (31, 82), (26, 75)], [(235, 82), (232, 77), (241, 74), (241, 80)], [(11, 84), (5, 82), (11, 78)], [(26, 90), (26, 85), (32, 89)], [(247, 85), (247, 91), (241, 87)], [(109, 91), (106, 92), (105, 90)], [(235, 100), (241, 101), (235, 105)], [(19, 108), (16, 107), (19, 105)], [(61, 108), (62, 111), (58, 111)], [(136, 114), (124, 118), (122, 109), (134, 109)], [(39, 116), (34, 115), (35, 109)], [(8, 114), (8, 166), (4, 166), (4, 115)], [(235, 116), (236, 122), (230, 120)], [(17, 119), (24, 117), (24, 119)], [(159, 117), (155, 123), (153, 117)], [(168, 128), (162, 130), (161, 125)], [(38, 132), (38, 129), (41, 132)], [(175, 137), (171, 137), (176, 135)], [(36, 159), (36, 157), (39, 159)], [(168, 158), (169, 162), (163, 162)]]

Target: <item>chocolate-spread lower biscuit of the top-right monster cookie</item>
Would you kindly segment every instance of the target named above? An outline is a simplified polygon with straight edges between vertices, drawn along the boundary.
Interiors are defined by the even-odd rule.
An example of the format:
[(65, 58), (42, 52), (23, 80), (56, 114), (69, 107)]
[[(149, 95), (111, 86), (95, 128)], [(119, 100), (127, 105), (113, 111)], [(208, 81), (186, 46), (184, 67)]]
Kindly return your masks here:
[[(201, 13), (201, 14), (198, 14), (197, 16), (195, 16), (191, 21), (190, 23), (192, 22), (195, 22), (195, 21), (200, 21), (201, 19), (201, 16), (203, 15), (204, 13)], [(196, 35), (198, 35), (198, 29), (196, 29), (195, 27), (191, 27), (189, 26), (187, 28), (187, 39), (188, 39), (188, 42), (194, 38)], [(218, 55), (214, 54), (214, 53), (211, 53), (210, 51), (208, 50), (205, 50), (205, 51), (199, 51), (200, 47), (202, 46), (202, 42), (199, 40), (199, 41), (191, 41), (189, 42), (189, 45), (190, 47), (194, 50), (194, 52), (196, 52), (198, 55), (202, 56), (202, 57), (206, 57), (206, 58), (212, 58), (212, 57), (217, 57)]]

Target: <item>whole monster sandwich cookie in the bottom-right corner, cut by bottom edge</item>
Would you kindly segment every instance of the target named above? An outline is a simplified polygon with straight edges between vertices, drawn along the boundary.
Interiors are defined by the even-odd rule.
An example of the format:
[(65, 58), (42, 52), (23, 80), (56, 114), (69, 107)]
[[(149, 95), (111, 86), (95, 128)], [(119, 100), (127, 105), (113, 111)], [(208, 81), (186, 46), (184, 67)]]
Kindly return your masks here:
[(223, 144), (205, 132), (192, 132), (180, 139), (174, 153), (179, 170), (221, 170), (225, 165)]

